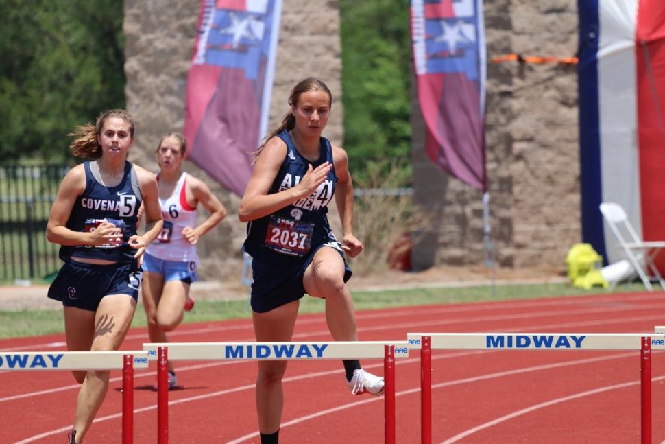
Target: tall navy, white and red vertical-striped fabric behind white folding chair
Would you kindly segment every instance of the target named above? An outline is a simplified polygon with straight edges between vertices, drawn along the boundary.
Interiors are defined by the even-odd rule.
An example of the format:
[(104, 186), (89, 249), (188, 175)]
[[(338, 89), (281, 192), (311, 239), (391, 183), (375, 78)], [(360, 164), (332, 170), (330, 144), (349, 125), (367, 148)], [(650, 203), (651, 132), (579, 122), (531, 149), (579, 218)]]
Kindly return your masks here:
[(665, 240), (665, 1), (578, 10), (582, 238), (614, 263), (623, 254), (601, 202), (621, 205), (642, 239)]

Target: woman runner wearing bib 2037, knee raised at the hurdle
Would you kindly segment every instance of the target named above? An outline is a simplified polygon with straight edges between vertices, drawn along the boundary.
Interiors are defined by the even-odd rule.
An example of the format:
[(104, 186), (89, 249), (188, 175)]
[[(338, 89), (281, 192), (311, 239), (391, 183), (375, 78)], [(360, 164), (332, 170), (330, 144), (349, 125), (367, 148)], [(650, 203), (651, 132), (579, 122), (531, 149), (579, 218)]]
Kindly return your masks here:
[[(256, 152), (254, 173), (240, 204), (247, 226), (243, 248), (252, 256), (252, 317), (258, 342), (290, 341), (304, 293), (325, 298), (326, 321), (335, 340), (357, 340), (344, 255), (363, 244), (353, 235), (353, 185), (348, 157), (321, 137), (333, 95), (316, 78), (295, 85), (291, 109)], [(337, 192), (335, 192), (337, 191)], [(335, 194), (343, 237), (330, 230), (328, 202)], [(282, 377), (287, 361), (258, 361), (256, 409), (261, 443), (277, 443), (282, 415)], [(345, 360), (354, 395), (383, 393), (383, 378)]]

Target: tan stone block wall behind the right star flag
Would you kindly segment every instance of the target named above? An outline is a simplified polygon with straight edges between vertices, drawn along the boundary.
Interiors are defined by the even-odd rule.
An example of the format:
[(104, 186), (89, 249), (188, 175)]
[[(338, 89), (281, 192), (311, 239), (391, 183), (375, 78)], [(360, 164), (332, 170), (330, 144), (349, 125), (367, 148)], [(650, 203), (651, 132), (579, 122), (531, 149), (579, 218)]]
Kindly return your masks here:
[[(577, 67), (492, 58), (574, 55), (577, 4), (485, 1), (485, 25), (486, 165), (495, 259), (500, 266), (565, 268), (568, 248), (581, 239)], [(415, 98), (413, 110), (414, 202), (434, 211), (438, 222), (416, 237), (413, 265), (482, 264), (481, 192), (429, 161)]]

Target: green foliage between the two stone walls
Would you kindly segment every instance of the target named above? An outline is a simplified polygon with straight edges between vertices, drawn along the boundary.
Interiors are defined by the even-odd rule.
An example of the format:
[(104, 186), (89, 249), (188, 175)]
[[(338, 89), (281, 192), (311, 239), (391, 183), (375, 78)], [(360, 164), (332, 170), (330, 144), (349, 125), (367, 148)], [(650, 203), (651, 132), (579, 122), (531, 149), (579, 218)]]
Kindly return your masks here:
[(354, 175), (366, 175), (367, 159), (396, 160), (409, 169), (409, 3), (341, 0), (339, 9), (344, 147)]

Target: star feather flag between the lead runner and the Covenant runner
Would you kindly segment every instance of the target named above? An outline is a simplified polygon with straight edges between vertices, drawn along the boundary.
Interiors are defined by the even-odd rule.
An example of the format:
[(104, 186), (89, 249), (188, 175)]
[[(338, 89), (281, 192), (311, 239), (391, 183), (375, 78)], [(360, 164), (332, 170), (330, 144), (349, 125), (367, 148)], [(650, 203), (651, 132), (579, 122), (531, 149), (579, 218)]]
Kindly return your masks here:
[(202, 0), (187, 77), (189, 158), (242, 196), (267, 131), (282, 0)]

